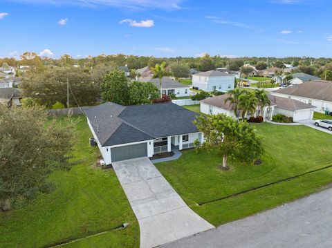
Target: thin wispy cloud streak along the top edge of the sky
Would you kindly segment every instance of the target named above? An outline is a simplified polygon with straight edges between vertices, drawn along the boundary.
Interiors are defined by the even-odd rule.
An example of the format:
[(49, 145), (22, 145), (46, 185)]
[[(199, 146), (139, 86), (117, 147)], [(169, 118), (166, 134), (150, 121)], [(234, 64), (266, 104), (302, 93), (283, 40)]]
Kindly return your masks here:
[(129, 10), (178, 10), (185, 0), (16, 0), (23, 3), (42, 3), (54, 5), (75, 5), (93, 8), (94, 6), (111, 6)]

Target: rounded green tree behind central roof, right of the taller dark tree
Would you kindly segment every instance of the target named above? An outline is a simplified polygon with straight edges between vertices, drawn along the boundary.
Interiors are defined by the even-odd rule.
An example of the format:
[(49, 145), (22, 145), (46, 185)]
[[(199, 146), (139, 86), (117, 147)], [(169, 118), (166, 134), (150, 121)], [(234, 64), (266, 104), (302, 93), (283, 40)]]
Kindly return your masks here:
[(150, 104), (159, 97), (159, 89), (151, 82), (132, 82), (129, 85), (129, 104)]

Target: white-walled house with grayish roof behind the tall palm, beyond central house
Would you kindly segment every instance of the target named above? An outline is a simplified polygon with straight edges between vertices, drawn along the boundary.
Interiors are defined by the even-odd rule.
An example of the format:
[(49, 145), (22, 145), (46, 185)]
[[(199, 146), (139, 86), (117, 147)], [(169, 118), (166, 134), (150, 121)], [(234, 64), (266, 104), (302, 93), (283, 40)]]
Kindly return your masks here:
[[(151, 82), (160, 90), (159, 79), (152, 78), (152, 76), (139, 79), (140, 82)], [(162, 79), (162, 91), (163, 95), (176, 95), (176, 97), (189, 97), (190, 96), (190, 86), (181, 84), (169, 77), (163, 77)]]

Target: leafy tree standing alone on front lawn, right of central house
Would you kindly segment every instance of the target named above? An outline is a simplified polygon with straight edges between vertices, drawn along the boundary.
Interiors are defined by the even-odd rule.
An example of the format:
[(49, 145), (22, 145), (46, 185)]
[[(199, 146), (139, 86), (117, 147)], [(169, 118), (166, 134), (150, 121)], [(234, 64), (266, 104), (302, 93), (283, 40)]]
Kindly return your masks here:
[(237, 122), (223, 114), (200, 116), (195, 121), (197, 128), (204, 135), (204, 142), (199, 149), (216, 153), (223, 158), (222, 169), (229, 169), (227, 162), (231, 157), (240, 162), (254, 162), (263, 152), (263, 146), (253, 126), (247, 122)]

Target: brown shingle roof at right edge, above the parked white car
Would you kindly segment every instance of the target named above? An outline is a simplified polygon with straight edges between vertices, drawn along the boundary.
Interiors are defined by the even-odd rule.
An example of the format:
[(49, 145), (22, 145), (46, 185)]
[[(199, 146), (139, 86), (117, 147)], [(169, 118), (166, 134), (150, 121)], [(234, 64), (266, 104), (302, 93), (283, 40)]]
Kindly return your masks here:
[(313, 80), (297, 86), (280, 88), (273, 92), (332, 102), (332, 81)]

